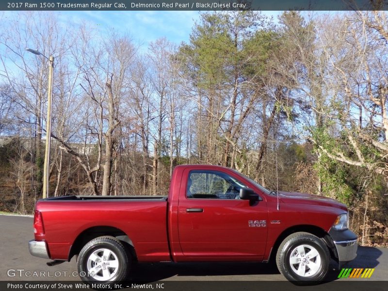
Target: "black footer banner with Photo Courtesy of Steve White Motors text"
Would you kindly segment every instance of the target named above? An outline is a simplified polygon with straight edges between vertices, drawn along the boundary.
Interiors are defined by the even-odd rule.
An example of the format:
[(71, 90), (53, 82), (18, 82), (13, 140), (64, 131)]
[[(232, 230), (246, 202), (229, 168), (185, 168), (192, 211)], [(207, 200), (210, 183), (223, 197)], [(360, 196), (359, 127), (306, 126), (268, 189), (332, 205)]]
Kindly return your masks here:
[(387, 281), (338, 279), (309, 286), (288, 281), (155, 281), (101, 284), (82, 281), (0, 281), (1, 291), (86, 291), (86, 290), (160, 290), (160, 291), (386, 291)]

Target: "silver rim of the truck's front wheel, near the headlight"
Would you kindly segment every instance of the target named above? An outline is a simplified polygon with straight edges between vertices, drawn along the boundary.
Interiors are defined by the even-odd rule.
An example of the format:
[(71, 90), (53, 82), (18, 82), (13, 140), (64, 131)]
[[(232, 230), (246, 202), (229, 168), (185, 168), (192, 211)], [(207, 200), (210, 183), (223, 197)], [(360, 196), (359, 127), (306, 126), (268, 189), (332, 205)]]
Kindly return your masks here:
[(291, 251), (291, 270), (301, 277), (311, 277), (321, 269), (321, 256), (318, 250), (309, 245), (301, 244)]

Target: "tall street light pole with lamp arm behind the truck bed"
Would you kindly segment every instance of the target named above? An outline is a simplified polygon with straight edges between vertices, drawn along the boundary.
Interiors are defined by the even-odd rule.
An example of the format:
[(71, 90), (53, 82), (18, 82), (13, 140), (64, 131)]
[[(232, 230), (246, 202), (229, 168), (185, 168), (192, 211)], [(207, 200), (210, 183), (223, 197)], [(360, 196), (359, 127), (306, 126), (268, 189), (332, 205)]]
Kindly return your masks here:
[(50, 148), (51, 148), (51, 102), (52, 102), (52, 73), (54, 68), (54, 57), (46, 57), (41, 52), (35, 49), (26, 49), (36, 55), (42, 55), (49, 60), (49, 87), (47, 90), (47, 119), (46, 119), (46, 151), (45, 164), (43, 169), (43, 198), (49, 197), (49, 163), (50, 163)]

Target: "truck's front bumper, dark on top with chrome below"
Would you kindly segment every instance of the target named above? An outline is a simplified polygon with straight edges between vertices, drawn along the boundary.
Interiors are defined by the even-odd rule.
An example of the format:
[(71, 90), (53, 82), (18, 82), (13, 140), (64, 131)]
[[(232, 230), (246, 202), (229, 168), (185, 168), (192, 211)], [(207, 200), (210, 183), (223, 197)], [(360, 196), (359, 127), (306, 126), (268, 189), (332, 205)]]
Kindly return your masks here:
[(349, 229), (337, 230), (332, 228), (329, 230), (329, 235), (336, 247), (339, 262), (348, 262), (356, 258), (357, 235), (354, 232)]

